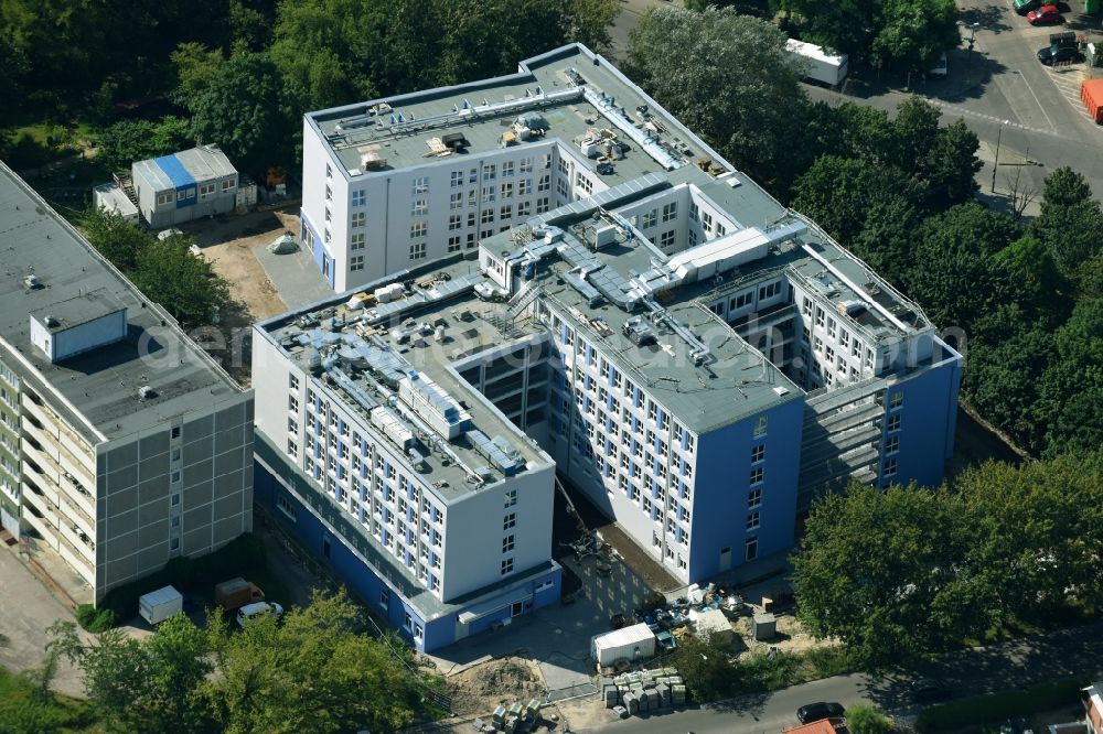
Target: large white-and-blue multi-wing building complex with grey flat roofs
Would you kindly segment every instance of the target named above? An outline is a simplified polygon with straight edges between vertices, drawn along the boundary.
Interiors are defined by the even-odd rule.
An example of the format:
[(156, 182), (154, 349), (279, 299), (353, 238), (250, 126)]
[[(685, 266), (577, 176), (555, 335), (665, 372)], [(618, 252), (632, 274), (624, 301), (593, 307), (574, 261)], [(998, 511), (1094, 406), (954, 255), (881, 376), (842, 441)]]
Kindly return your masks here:
[(585, 47), (308, 115), (302, 215), (344, 292), (257, 327), (258, 499), (419, 647), (546, 603), (553, 465), (684, 583), (942, 477), (960, 355)]

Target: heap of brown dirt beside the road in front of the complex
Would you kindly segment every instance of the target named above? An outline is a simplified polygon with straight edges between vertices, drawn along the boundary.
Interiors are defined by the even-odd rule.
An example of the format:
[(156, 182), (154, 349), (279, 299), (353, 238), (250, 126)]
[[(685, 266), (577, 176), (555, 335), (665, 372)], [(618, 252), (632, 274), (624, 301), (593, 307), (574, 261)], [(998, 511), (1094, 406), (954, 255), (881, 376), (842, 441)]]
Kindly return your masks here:
[(517, 701), (544, 698), (544, 679), (534, 663), (524, 658), (490, 660), (446, 681), (452, 697), (452, 713), (474, 716), (508, 706)]

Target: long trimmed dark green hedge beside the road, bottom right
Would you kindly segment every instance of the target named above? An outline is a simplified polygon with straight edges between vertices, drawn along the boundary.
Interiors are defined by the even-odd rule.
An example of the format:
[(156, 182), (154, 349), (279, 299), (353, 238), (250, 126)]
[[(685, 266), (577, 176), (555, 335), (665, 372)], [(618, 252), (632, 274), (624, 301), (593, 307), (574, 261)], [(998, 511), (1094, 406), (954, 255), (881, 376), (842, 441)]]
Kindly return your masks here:
[(944, 732), (1058, 709), (1079, 701), (1080, 690), (1090, 684), (1091, 680), (1083, 677), (1062, 678), (1040, 686), (942, 703), (919, 714), (915, 731), (922, 734)]

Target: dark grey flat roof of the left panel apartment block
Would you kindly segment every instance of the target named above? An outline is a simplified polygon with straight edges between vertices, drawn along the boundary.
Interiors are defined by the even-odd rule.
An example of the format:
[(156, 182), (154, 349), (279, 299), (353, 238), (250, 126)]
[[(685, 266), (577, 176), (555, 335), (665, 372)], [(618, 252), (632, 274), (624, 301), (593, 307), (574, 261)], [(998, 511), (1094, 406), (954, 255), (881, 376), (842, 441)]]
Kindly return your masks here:
[[(160, 306), (104, 260), (23, 180), (0, 163), (0, 339), (24, 361), (4, 358), (21, 377), (44, 381), (84, 417), (66, 415), (93, 444), (153, 428), (242, 392)], [(33, 274), (38, 288), (24, 279)], [(62, 323), (125, 307), (126, 339), (58, 364), (30, 341), (28, 314)], [(142, 400), (138, 389), (153, 393)], [(62, 408), (54, 401), (52, 407)], [(87, 423), (90, 423), (89, 428)], [(103, 436), (103, 438), (101, 438)]]

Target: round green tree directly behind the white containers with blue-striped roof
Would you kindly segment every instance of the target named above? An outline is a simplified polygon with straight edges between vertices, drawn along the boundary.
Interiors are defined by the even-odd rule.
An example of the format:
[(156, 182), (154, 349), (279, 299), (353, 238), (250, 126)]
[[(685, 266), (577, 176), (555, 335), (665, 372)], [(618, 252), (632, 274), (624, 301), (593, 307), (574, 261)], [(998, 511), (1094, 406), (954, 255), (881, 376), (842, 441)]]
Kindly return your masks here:
[(271, 58), (236, 54), (192, 102), (195, 133), (204, 143), (217, 143), (239, 170), (263, 172), (289, 159), (293, 123), (281, 112), (279, 99), (279, 74)]

